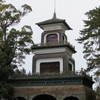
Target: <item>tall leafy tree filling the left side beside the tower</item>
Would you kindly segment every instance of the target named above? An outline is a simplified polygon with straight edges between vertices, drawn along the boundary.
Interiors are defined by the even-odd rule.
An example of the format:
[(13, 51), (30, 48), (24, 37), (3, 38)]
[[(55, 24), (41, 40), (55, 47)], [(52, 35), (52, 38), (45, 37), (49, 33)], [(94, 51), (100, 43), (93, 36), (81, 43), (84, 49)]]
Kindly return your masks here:
[(9, 76), (24, 63), (23, 59), (30, 54), (30, 46), (33, 44), (30, 26), (25, 25), (21, 30), (9, 27), (18, 24), (31, 11), (29, 5), (24, 4), (18, 10), (12, 4), (0, 0), (0, 99), (11, 100), (13, 86), (8, 81)]

